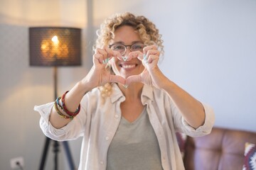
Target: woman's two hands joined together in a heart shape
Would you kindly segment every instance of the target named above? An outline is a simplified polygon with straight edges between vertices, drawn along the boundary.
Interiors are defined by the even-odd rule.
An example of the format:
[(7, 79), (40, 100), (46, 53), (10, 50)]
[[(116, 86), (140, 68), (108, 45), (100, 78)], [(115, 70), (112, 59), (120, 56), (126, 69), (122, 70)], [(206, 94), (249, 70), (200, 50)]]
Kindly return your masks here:
[[(93, 55), (92, 69), (90, 69), (90, 72), (84, 80), (87, 81), (92, 88), (111, 82), (120, 83), (124, 86), (129, 86), (132, 82), (142, 82), (144, 84), (158, 87), (157, 84), (159, 80), (157, 78), (157, 73), (159, 72), (159, 68), (157, 63), (159, 61), (159, 55), (160, 52), (157, 50), (156, 45), (144, 47), (143, 52), (130, 52), (127, 58), (122, 57), (122, 55), (117, 51), (110, 50), (107, 46), (104, 46), (102, 49), (97, 48), (95, 55)], [(145, 69), (141, 74), (132, 75), (127, 77), (127, 79), (124, 79), (124, 77), (111, 74), (110, 70), (107, 69), (107, 63), (112, 59), (112, 57), (124, 61), (138, 58), (142, 61)]]

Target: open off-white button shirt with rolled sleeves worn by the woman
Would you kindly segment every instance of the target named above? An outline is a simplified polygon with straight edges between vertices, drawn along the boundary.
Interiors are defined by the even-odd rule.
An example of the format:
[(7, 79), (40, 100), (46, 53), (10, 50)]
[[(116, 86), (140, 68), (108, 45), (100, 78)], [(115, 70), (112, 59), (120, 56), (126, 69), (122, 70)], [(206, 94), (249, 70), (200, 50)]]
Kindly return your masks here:
[[(80, 170), (105, 170), (107, 149), (117, 131), (122, 116), (120, 103), (124, 100), (117, 84), (113, 84), (111, 96), (105, 99), (100, 96), (100, 90), (95, 88), (82, 98), (80, 113), (60, 129), (53, 128), (49, 122), (53, 102), (35, 106), (34, 110), (41, 114), (41, 129), (47, 137), (59, 141), (83, 137)], [(195, 130), (182, 118), (176, 104), (165, 91), (144, 85), (142, 104), (146, 106), (159, 141), (163, 169), (184, 169), (175, 132), (183, 132), (192, 137), (209, 134), (215, 121), (213, 109), (203, 104), (206, 120), (204, 125)]]

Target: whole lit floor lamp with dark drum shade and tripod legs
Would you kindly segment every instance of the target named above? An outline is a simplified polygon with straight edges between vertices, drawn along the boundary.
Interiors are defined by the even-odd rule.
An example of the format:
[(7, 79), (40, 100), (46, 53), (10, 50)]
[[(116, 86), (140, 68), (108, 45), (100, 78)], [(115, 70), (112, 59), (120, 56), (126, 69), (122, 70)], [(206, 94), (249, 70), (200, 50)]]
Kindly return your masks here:
[[(81, 65), (81, 29), (63, 27), (31, 27), (29, 28), (29, 62), (30, 66), (53, 67), (54, 100), (58, 97), (58, 67)], [(54, 101), (53, 100), (53, 101)], [(53, 142), (54, 168), (58, 170), (59, 142), (46, 137), (41, 164), (43, 170), (50, 142)], [(68, 147), (62, 142), (71, 170), (75, 164)]]

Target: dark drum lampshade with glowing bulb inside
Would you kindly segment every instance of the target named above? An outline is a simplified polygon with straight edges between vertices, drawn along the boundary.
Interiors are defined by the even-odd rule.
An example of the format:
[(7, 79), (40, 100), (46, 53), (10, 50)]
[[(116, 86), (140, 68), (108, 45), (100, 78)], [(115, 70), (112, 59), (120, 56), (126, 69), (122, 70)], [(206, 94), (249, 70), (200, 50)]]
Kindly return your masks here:
[(81, 65), (81, 29), (29, 28), (29, 56), (31, 66)]

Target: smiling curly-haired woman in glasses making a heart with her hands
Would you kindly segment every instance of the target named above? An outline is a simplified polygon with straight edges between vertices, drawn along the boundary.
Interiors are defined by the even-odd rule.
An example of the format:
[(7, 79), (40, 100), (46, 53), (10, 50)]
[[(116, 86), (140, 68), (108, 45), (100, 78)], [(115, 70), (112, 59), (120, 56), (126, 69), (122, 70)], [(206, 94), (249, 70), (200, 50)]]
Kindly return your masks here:
[(175, 132), (210, 133), (214, 113), (158, 67), (159, 30), (132, 13), (97, 31), (93, 66), (55, 102), (36, 106), (53, 140), (83, 137), (79, 169), (184, 169)]

